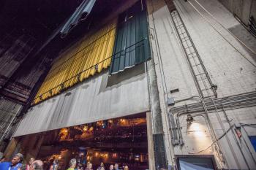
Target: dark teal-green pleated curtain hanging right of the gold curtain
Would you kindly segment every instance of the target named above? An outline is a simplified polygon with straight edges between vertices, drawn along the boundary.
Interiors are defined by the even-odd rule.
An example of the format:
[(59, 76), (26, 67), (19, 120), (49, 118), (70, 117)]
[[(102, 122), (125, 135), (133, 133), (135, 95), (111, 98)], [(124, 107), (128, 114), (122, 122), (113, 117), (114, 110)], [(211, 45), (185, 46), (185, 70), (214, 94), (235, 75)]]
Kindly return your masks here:
[(138, 1), (119, 16), (110, 74), (124, 71), (150, 58), (145, 4)]

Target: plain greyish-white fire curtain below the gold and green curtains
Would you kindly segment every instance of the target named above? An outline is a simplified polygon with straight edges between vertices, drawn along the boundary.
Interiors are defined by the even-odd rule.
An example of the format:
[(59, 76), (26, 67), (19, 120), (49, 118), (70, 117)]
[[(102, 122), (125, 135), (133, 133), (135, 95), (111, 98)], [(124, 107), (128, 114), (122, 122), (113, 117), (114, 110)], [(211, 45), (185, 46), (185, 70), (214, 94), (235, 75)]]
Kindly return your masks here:
[[(29, 109), (14, 136), (92, 123), (149, 110), (146, 74), (109, 85), (108, 72)], [(114, 81), (115, 82), (115, 81)]]

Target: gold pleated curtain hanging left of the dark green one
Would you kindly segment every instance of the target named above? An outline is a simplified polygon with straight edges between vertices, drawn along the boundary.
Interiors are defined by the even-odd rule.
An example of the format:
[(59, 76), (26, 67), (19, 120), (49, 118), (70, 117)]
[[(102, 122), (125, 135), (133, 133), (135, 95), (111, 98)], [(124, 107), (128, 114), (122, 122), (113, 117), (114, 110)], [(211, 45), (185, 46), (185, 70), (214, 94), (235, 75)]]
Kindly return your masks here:
[(117, 20), (113, 20), (61, 53), (39, 88), (34, 104), (108, 68), (113, 54), (116, 24)]

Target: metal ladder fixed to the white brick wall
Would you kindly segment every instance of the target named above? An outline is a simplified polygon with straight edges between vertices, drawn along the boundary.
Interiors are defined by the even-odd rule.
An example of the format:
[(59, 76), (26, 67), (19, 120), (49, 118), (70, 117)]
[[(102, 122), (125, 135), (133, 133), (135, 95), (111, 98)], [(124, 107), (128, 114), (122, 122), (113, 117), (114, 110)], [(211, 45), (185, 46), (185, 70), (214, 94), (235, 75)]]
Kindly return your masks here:
[(175, 25), (178, 38), (189, 61), (190, 69), (195, 77), (195, 82), (198, 86), (199, 93), (203, 98), (217, 97), (217, 85), (211, 82), (211, 78), (206, 71), (206, 67), (203, 65), (203, 61), (200, 58), (197, 49), (189, 36), (186, 26), (184, 25), (181, 16), (177, 10), (173, 10), (170, 13), (173, 23)]

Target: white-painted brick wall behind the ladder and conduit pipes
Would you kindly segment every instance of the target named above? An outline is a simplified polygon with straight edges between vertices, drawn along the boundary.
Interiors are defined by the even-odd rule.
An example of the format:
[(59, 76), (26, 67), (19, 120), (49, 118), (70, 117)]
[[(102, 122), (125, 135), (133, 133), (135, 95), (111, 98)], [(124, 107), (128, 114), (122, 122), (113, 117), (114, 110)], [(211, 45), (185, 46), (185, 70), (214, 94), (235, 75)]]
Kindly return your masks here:
[[(200, 9), (195, 1), (191, 1), (200, 12), (211, 22), (214, 30), (197, 11), (185, 1), (174, 1), (184, 24), (189, 31), (192, 41), (203, 60), (211, 81), (217, 85), (218, 98), (249, 93), (256, 89), (256, 56), (246, 47), (241, 45), (225, 28), (232, 30), (236, 28), (236, 36), (248, 47), (256, 51), (256, 39), (252, 37), (238, 21), (219, 1), (199, 0), (212, 15), (214, 15), (225, 28), (213, 20), (203, 9)], [(165, 1), (148, 0), (148, 21), (151, 34), (151, 47), (157, 71), (157, 84), (162, 110), (162, 122), (165, 131), (165, 150), (168, 164), (175, 165), (175, 155), (208, 155), (214, 154), (219, 168), (225, 169), (255, 169), (255, 151), (244, 128), (249, 136), (255, 135), (251, 126), (241, 129), (244, 139), (238, 139), (241, 150), (234, 140), (232, 131), (219, 139), (219, 147), (224, 154), (223, 163), (217, 156), (216, 150), (209, 147), (213, 142), (214, 134), (217, 138), (225, 133), (230, 127), (222, 110), (210, 112), (209, 118), (214, 128), (214, 134), (209, 128), (209, 123), (203, 116), (195, 116), (195, 123), (187, 125), (187, 115), (180, 117), (181, 132), (184, 137), (184, 145), (173, 146), (171, 144), (172, 134), (169, 131), (170, 125), (167, 117), (167, 97), (173, 97), (176, 101), (191, 96), (198, 96), (197, 87), (189, 69), (189, 63), (181, 48), (180, 42), (174, 30), (170, 11)], [(227, 39), (227, 40), (226, 40)], [(228, 41), (228, 42), (227, 42)], [(178, 92), (170, 93), (170, 90), (178, 88)], [(174, 107), (199, 102), (197, 100), (186, 100), (178, 102)], [(233, 123), (255, 123), (256, 107), (241, 109), (229, 109), (226, 111), (230, 124)], [(200, 113), (201, 114), (201, 113)], [(204, 113), (203, 113), (204, 115)], [(175, 115), (176, 116), (176, 115)], [(205, 116), (205, 115), (204, 115)], [(206, 117), (206, 116), (205, 116)], [(233, 128), (232, 128), (233, 129)], [(227, 139), (228, 136), (228, 139)], [(229, 143), (230, 142), (230, 143)], [(246, 143), (245, 143), (246, 142)], [(249, 146), (249, 149), (246, 147)], [(207, 150), (205, 150), (208, 147)], [(203, 152), (198, 152), (204, 150)], [(252, 152), (252, 154), (250, 153)], [(234, 155), (234, 153), (236, 153)], [(234, 158), (236, 157), (236, 158)]]

